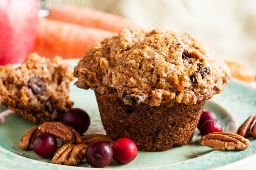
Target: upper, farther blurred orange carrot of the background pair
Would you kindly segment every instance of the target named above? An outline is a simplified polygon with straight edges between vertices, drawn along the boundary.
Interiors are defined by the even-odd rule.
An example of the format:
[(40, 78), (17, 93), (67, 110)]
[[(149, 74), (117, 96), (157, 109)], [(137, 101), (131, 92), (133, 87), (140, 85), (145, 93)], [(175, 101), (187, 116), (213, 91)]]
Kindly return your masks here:
[(47, 18), (113, 32), (119, 32), (124, 28), (142, 28), (137, 23), (118, 15), (81, 6), (62, 6), (60, 8), (51, 9)]

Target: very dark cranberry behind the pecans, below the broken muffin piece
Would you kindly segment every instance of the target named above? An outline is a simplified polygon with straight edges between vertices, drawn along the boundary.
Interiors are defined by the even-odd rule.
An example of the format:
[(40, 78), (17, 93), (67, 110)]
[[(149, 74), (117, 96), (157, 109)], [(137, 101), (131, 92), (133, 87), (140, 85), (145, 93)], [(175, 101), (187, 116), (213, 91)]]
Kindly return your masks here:
[(73, 127), (78, 133), (83, 134), (90, 125), (90, 117), (84, 110), (72, 108), (63, 115), (62, 123)]

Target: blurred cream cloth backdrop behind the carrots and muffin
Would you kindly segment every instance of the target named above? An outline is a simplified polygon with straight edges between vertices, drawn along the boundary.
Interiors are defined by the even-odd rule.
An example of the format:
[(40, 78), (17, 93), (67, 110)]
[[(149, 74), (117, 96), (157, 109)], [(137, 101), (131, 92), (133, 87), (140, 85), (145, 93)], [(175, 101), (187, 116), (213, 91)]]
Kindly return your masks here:
[(256, 71), (255, 0), (45, 0), (47, 8), (81, 5), (140, 23), (189, 33), (226, 59)]

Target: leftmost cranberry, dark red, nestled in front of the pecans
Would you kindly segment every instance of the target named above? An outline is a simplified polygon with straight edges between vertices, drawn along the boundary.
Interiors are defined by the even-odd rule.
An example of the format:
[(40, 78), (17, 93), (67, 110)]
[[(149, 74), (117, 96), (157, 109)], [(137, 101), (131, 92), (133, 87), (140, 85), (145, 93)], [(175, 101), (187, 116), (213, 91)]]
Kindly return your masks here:
[(38, 135), (33, 142), (34, 152), (42, 158), (49, 158), (55, 153), (56, 149), (55, 137), (46, 133)]

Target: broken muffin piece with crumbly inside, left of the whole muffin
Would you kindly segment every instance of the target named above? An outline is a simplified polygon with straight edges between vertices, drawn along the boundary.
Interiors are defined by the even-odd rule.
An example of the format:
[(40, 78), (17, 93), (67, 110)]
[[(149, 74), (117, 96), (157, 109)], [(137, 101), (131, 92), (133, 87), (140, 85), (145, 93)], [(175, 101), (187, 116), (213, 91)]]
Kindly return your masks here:
[(29, 54), (18, 68), (0, 66), (0, 101), (31, 122), (56, 121), (73, 106), (68, 100), (73, 78), (71, 66), (61, 57)]

